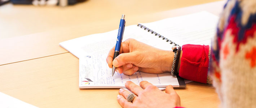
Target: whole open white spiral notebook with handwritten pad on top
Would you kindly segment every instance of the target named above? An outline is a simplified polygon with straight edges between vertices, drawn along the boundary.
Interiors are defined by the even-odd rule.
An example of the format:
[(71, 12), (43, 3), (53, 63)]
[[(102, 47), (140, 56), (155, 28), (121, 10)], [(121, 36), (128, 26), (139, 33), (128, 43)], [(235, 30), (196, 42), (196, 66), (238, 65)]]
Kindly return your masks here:
[[(125, 27), (123, 41), (133, 38), (163, 50), (171, 50), (173, 45), (210, 45), (217, 20), (218, 17), (211, 13), (199, 12), (151, 23), (139, 23)], [(157, 87), (185, 87), (184, 80), (172, 76), (171, 73), (136, 72), (127, 76), (115, 72), (112, 77), (106, 57), (116, 43), (117, 32), (118, 30), (113, 30), (59, 43), (79, 58), (79, 88), (123, 88), (125, 81), (132, 81), (137, 85), (141, 81), (149, 81)]]

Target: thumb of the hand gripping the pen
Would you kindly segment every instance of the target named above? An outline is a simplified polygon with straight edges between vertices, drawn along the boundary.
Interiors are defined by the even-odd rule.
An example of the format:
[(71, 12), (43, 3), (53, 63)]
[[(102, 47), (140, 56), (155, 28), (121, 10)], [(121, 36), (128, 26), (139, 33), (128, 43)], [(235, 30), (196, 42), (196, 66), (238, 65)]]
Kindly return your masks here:
[(112, 65), (114, 67), (120, 67), (124, 64), (136, 64), (136, 54), (134, 52), (131, 53), (122, 53), (118, 55), (112, 62)]

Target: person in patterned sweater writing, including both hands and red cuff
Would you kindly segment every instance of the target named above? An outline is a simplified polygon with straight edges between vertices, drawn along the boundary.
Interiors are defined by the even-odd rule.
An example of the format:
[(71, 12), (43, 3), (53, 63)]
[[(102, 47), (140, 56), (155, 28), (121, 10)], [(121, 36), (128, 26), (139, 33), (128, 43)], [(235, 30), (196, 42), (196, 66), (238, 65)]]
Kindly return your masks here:
[[(173, 51), (128, 39), (122, 42), (121, 54), (113, 60), (114, 48), (106, 61), (110, 68), (118, 67), (119, 73), (171, 71)], [(180, 77), (202, 83), (211, 82), (210, 75), (221, 108), (256, 108), (256, 1), (228, 0), (211, 48), (183, 45), (177, 70)], [(128, 102), (129, 91), (120, 89), (117, 100), (124, 108), (180, 107), (180, 97), (171, 85), (166, 87), (165, 93), (147, 81), (141, 81), (140, 86), (128, 81), (125, 86), (136, 96)]]

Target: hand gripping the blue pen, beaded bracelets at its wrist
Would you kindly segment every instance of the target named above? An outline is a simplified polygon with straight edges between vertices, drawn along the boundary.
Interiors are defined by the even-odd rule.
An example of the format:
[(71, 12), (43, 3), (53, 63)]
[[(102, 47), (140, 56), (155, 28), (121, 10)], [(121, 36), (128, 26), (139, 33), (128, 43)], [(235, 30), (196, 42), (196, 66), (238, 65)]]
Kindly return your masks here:
[(146, 73), (171, 72), (173, 51), (161, 50), (134, 39), (122, 42), (118, 57), (113, 60), (115, 46), (109, 51), (107, 64), (119, 73), (132, 75), (137, 71)]

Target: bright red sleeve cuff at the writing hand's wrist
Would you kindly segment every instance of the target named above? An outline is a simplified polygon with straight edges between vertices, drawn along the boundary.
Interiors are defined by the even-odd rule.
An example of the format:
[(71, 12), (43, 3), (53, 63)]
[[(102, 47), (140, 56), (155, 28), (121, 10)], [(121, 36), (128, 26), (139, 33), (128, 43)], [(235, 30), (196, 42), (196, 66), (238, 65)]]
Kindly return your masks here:
[(206, 83), (208, 54), (209, 45), (183, 45), (179, 76), (187, 80)]

